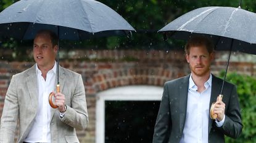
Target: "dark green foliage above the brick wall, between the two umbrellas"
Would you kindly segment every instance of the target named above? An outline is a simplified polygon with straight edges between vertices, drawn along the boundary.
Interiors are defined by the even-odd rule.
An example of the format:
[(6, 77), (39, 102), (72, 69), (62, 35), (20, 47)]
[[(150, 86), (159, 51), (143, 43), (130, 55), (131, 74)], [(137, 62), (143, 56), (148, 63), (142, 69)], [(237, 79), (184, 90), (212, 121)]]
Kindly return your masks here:
[[(18, 0), (1, 0), (0, 11)], [(80, 47), (94, 47), (96, 49), (136, 48), (136, 49), (164, 49), (170, 50), (173, 47), (181, 47), (183, 44), (168, 38), (163, 41), (163, 35), (157, 31), (170, 21), (193, 9), (207, 6), (229, 6), (238, 7), (239, 1), (229, 0), (99, 0), (103, 4), (114, 9), (122, 15), (135, 29), (132, 38), (104, 37), (90, 39), (79, 44)], [(256, 1), (242, 1), (242, 9), (255, 12)], [(7, 41), (8, 43), (8, 41)], [(64, 44), (66, 45), (66, 44)], [(17, 45), (19, 46), (19, 44)], [(10, 45), (11, 47), (11, 45)], [(64, 47), (65, 48), (65, 47)], [(19, 50), (19, 48), (17, 48)]]

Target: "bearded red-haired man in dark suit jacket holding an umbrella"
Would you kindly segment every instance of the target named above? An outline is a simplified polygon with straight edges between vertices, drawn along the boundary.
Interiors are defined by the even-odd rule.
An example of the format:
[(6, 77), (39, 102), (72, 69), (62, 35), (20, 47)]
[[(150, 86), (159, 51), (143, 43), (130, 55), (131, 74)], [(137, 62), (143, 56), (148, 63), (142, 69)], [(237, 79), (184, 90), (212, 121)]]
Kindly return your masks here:
[[(213, 45), (205, 37), (192, 37), (185, 48), (191, 74), (164, 84), (153, 143), (225, 142), (239, 137), (241, 113), (236, 87), (225, 82), (223, 101), (218, 101), (223, 80), (210, 73)], [(217, 118), (209, 117), (210, 106)]]

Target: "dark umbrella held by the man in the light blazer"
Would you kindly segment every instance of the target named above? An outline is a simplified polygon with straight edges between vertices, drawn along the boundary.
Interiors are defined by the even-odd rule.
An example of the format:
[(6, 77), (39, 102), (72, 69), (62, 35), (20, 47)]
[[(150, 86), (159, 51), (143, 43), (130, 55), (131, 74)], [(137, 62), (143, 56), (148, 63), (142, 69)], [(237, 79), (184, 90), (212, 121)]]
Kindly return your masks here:
[[(33, 39), (41, 29), (49, 29), (59, 39), (69, 40), (120, 36), (135, 31), (117, 12), (93, 0), (21, 0), (0, 13), (1, 38)], [(59, 54), (57, 61), (59, 92)]]

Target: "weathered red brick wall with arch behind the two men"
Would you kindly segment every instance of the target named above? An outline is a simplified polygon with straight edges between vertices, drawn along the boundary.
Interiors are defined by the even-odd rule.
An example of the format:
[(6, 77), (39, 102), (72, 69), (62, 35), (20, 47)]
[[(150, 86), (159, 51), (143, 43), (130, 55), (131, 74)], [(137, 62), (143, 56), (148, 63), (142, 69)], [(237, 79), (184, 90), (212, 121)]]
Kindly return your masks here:
[[(189, 67), (182, 51), (162, 50), (76, 50), (63, 52), (60, 65), (82, 75), (86, 88), (89, 126), (77, 131), (81, 142), (95, 142), (96, 98), (99, 91), (124, 85), (156, 85), (162, 87), (167, 80), (189, 74)], [(226, 66), (225, 52), (218, 52), (212, 64), (213, 74)], [(234, 56), (234, 55), (232, 55)], [(254, 63), (232, 60), (228, 71), (255, 76)], [(238, 56), (237, 54), (235, 56)], [(246, 57), (247, 55), (242, 55)], [(223, 58), (224, 57), (224, 58)], [(3, 58), (4, 59), (4, 58)], [(33, 62), (0, 60), (0, 114), (12, 75), (31, 67)]]

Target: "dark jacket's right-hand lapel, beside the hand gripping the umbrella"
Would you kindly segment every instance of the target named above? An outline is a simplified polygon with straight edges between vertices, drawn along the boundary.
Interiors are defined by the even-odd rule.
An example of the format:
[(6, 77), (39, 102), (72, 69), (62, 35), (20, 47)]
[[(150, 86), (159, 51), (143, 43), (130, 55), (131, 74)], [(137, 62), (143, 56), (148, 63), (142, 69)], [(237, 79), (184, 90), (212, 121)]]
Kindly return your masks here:
[[(218, 82), (217, 77), (212, 74), (212, 91), (210, 97), (210, 105), (209, 105), (209, 115), (210, 115), (210, 107), (213, 102), (216, 102), (218, 95), (220, 95), (221, 83)], [(209, 117), (209, 125), (208, 125), (208, 133), (210, 133), (210, 129), (212, 128), (213, 120)]]

